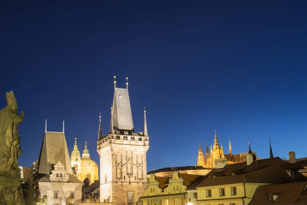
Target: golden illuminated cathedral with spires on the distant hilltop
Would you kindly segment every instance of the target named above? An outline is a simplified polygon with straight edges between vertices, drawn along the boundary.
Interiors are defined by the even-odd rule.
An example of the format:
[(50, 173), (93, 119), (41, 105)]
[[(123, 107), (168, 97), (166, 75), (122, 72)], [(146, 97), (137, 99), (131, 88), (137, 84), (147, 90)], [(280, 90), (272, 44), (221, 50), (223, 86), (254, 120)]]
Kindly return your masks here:
[[(203, 166), (204, 168), (214, 168), (215, 159), (223, 159), (223, 158), (226, 158), (228, 164), (239, 163), (239, 162), (246, 161), (246, 155), (247, 153), (232, 154), (230, 140), (229, 140), (229, 153), (225, 154), (223, 151), (223, 146), (222, 145), (220, 146), (218, 144), (216, 130), (215, 130), (214, 145), (213, 147), (211, 145), (210, 151), (209, 151), (209, 147), (207, 144), (207, 150), (206, 150), (205, 155), (203, 153), (202, 146), (200, 143), (200, 149), (199, 149), (199, 154), (197, 158), (197, 165)], [(252, 152), (252, 155), (253, 155), (253, 160), (259, 159), (255, 152)]]

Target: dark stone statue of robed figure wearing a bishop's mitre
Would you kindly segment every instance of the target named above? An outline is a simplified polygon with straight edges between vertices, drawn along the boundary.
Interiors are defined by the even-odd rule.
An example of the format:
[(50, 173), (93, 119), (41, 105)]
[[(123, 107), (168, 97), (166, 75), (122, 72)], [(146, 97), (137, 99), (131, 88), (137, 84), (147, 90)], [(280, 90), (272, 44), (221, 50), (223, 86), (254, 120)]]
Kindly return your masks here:
[(13, 91), (6, 93), (7, 107), (0, 111), (0, 172), (17, 172), (17, 158), (21, 154), (17, 126), (23, 121), (25, 113), (17, 115), (17, 101)]

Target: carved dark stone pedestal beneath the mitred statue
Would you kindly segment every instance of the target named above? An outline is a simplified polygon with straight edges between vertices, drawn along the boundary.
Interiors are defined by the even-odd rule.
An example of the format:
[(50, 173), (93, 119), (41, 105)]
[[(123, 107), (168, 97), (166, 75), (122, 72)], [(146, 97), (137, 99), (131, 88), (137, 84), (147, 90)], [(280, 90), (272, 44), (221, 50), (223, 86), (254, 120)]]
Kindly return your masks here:
[[(19, 177), (18, 177), (19, 176)], [(25, 205), (19, 172), (0, 172), (0, 204)]]

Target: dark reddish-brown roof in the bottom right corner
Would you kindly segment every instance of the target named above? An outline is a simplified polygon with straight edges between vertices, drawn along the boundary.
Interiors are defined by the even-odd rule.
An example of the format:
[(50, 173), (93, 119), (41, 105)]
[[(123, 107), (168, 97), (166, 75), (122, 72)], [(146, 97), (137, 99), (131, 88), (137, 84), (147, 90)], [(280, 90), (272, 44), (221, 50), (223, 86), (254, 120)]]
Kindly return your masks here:
[[(258, 204), (307, 204), (306, 181), (259, 186), (249, 205)], [(278, 195), (274, 202), (269, 202), (269, 195)]]

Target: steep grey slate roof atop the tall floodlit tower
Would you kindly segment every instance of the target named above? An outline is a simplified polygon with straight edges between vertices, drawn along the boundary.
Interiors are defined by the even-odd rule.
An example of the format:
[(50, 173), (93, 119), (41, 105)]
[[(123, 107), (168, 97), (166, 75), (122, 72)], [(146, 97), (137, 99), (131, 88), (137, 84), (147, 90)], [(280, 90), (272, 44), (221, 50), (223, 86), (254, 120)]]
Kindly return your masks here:
[(115, 130), (133, 130), (129, 93), (127, 89), (116, 88), (113, 98), (113, 126)]

